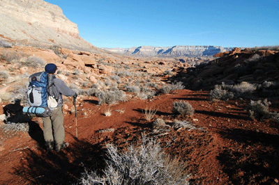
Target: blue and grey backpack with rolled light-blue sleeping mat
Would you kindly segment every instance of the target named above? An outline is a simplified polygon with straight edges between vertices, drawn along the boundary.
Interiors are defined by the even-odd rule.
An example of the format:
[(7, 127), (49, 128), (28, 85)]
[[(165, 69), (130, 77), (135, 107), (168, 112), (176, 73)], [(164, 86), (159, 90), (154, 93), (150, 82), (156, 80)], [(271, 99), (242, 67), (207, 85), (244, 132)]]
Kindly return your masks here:
[(52, 97), (48, 95), (48, 90), (48, 73), (37, 72), (32, 74), (29, 77), (29, 86), (27, 90), (27, 99), (30, 106), (24, 107), (23, 113), (29, 116), (37, 117), (50, 116), (57, 104), (56, 106), (48, 107), (48, 99), (50, 102), (50, 97)]

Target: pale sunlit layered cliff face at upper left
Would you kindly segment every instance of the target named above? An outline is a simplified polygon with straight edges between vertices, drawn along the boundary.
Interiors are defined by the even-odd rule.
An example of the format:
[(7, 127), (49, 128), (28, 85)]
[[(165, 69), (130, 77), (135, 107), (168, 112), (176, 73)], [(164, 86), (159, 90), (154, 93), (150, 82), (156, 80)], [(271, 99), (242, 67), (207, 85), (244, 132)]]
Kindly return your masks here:
[(0, 22), (0, 37), (5, 40), (91, 46), (59, 6), (43, 0), (0, 0)]

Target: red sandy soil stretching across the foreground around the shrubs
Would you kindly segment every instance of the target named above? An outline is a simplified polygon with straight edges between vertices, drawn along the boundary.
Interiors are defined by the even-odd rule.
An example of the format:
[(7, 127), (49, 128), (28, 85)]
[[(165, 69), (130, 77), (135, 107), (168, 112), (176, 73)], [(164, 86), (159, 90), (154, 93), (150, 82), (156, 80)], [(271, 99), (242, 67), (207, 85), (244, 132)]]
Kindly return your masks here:
[[(107, 157), (105, 143), (122, 150), (141, 140), (142, 134), (156, 136), (152, 121), (144, 118), (146, 107), (158, 108), (156, 118), (190, 120), (199, 128), (172, 129), (156, 137), (167, 154), (186, 161), (191, 184), (278, 184), (278, 123), (250, 120), (245, 110), (250, 100), (212, 102), (208, 93), (175, 90), (110, 106), (98, 105), (96, 97), (82, 97), (77, 102), (77, 137), (75, 112), (64, 112), (70, 145), (61, 152), (45, 151), (40, 118), (33, 118), (29, 133), (1, 131), (5, 141), (0, 145), (0, 184), (73, 184), (85, 168), (101, 172)], [(179, 100), (195, 108), (193, 117), (172, 113), (172, 103)], [(278, 112), (279, 102), (270, 101), (270, 111)], [(66, 104), (73, 106), (69, 101)], [(104, 115), (108, 108), (111, 116)]]

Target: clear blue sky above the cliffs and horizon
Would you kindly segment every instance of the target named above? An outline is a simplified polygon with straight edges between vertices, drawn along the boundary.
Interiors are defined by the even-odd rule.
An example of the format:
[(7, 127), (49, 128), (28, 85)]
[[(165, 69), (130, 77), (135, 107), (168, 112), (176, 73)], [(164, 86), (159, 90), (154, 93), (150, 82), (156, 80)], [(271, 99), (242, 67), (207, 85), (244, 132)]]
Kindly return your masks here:
[(279, 45), (279, 1), (45, 0), (96, 47)]

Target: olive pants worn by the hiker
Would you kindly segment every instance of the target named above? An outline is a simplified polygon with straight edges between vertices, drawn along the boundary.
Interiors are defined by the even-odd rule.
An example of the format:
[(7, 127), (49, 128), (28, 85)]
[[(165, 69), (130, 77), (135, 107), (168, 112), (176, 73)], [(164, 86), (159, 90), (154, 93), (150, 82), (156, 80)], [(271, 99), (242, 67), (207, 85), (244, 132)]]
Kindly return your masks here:
[(54, 149), (59, 151), (65, 141), (62, 106), (56, 107), (49, 117), (43, 118), (43, 134), (47, 151)]

